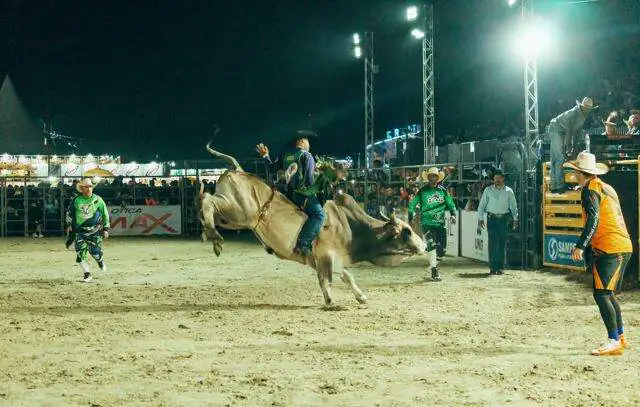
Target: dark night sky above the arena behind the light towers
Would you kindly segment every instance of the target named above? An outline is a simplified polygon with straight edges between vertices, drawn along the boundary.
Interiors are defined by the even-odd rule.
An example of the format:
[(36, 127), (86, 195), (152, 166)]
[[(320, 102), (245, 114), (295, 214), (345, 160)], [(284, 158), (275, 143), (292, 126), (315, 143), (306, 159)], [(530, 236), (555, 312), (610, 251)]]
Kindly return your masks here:
[[(545, 75), (588, 65), (576, 49), (633, 31), (624, 24), (640, 22), (638, 3), (549, 6), (564, 62), (541, 63), (541, 92)], [(421, 122), (421, 48), (408, 34), (408, 4), (0, 0), (0, 75), (11, 76), (32, 116), (85, 139), (85, 149), (99, 141), (138, 160), (203, 157), (218, 124), (214, 145), (240, 157), (309, 126), (321, 136), (315, 152), (357, 154), (364, 77), (353, 32), (375, 33), (376, 136)], [(506, 0), (436, 2), (438, 136), (521, 112), (523, 68), (509, 43), (518, 16)]]

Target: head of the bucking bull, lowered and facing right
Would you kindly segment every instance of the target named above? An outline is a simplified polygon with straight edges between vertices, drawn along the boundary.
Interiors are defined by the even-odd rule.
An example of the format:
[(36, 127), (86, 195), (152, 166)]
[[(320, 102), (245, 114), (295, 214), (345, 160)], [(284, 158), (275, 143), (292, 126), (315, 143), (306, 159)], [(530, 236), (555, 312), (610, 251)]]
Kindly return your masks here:
[(396, 218), (392, 213), (376, 234), (376, 253), (372, 262), (379, 266), (395, 266), (405, 258), (423, 254), (426, 245), (408, 223)]

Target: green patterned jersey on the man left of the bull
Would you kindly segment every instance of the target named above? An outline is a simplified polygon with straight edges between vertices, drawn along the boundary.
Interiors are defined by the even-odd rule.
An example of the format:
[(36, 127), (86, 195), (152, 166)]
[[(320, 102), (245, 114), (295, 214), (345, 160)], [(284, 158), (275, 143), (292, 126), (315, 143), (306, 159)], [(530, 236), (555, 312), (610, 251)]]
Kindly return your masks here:
[(109, 229), (109, 211), (102, 198), (93, 194), (90, 197), (77, 195), (67, 208), (67, 225), (74, 232), (94, 233), (100, 229)]

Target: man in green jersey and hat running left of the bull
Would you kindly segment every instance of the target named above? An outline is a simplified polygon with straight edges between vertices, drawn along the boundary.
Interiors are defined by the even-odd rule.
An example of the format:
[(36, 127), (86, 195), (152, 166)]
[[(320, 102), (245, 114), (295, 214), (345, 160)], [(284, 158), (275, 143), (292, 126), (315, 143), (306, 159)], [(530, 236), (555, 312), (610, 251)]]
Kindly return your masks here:
[(80, 192), (69, 204), (66, 213), (66, 232), (69, 235), (67, 249), (75, 238), (76, 263), (84, 272), (83, 281), (91, 281), (87, 253), (98, 263), (102, 271), (107, 271), (102, 255), (102, 239), (109, 237), (109, 211), (101, 197), (93, 193), (93, 183), (84, 179), (76, 185)]

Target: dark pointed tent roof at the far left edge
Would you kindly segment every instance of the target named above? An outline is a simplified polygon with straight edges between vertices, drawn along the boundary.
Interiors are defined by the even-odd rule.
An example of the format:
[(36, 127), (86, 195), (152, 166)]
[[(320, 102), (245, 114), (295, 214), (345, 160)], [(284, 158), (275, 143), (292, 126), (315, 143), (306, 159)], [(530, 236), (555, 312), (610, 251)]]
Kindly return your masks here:
[(44, 134), (27, 114), (7, 75), (0, 88), (0, 154), (40, 154)]

